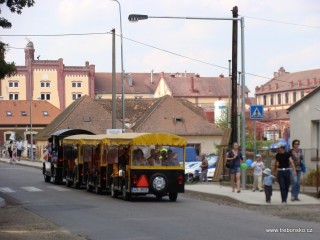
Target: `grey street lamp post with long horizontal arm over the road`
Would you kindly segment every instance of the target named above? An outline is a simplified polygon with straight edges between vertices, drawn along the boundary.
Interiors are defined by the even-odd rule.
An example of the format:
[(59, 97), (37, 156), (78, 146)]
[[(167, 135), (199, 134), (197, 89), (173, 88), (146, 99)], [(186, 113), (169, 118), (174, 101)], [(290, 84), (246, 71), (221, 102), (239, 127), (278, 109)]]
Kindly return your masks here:
[[(203, 17), (172, 17), (172, 16), (149, 16), (149, 15), (141, 15), (141, 14), (130, 14), (128, 20), (130, 22), (137, 22), (140, 20), (146, 20), (148, 18), (160, 18), (160, 19), (189, 19), (189, 20), (226, 20), (226, 21), (240, 21), (241, 25), (241, 84), (242, 84), (242, 138), (241, 138), (241, 146), (242, 146), (242, 154), (245, 159), (246, 154), (246, 146), (245, 146), (245, 55), (244, 55), (244, 18), (203, 18)], [(237, 74), (237, 73), (236, 73)], [(236, 78), (236, 77), (235, 77)], [(235, 96), (236, 97), (236, 96)], [(237, 107), (237, 106), (235, 106)], [(237, 116), (232, 116), (231, 120), (236, 118)], [(231, 123), (231, 126), (233, 124)], [(242, 174), (242, 187), (245, 188), (245, 177)]]

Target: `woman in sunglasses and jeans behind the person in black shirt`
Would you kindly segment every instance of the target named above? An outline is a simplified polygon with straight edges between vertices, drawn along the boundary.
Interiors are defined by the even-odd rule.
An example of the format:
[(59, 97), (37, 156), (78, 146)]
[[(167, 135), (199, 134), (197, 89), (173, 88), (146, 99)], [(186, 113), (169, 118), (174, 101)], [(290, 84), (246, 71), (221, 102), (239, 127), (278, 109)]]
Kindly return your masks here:
[(300, 179), (301, 174), (306, 172), (305, 162), (302, 155), (302, 150), (299, 148), (300, 141), (295, 139), (292, 141), (292, 149), (289, 151), (289, 154), (293, 160), (294, 166), (296, 168), (297, 175), (294, 176), (291, 173), (291, 201), (300, 201), (299, 193), (300, 193)]

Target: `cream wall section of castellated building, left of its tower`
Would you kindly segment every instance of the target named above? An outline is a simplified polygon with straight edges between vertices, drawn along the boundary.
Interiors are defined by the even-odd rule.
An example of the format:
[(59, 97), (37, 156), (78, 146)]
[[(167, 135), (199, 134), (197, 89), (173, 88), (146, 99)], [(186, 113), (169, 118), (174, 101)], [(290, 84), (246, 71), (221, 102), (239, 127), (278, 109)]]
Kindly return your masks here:
[[(19, 84), (18, 87), (9, 87), (10, 81), (17, 81)], [(26, 76), (24, 74), (17, 74), (1, 80), (0, 96), (3, 97), (3, 100), (9, 100), (9, 93), (18, 93), (19, 100), (26, 100)]]

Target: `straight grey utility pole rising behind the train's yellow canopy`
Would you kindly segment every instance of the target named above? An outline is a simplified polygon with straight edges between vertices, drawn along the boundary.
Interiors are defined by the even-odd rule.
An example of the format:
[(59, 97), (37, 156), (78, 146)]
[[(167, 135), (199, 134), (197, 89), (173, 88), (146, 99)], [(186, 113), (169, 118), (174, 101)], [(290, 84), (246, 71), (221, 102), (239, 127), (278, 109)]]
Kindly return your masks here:
[(116, 30), (113, 28), (112, 33), (112, 129), (116, 129)]

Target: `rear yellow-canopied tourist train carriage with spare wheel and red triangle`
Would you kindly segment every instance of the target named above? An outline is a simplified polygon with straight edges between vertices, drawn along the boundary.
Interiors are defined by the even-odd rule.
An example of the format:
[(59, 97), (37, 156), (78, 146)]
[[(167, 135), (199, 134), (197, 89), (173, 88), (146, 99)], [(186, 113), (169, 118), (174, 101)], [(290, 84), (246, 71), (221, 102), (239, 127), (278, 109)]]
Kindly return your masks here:
[[(153, 194), (157, 199), (169, 196), (176, 201), (184, 192), (186, 140), (166, 133), (123, 133), (107, 139), (107, 176), (111, 197), (123, 200), (132, 196)], [(181, 148), (178, 154), (171, 148)], [(107, 171), (109, 172), (109, 171)]]

